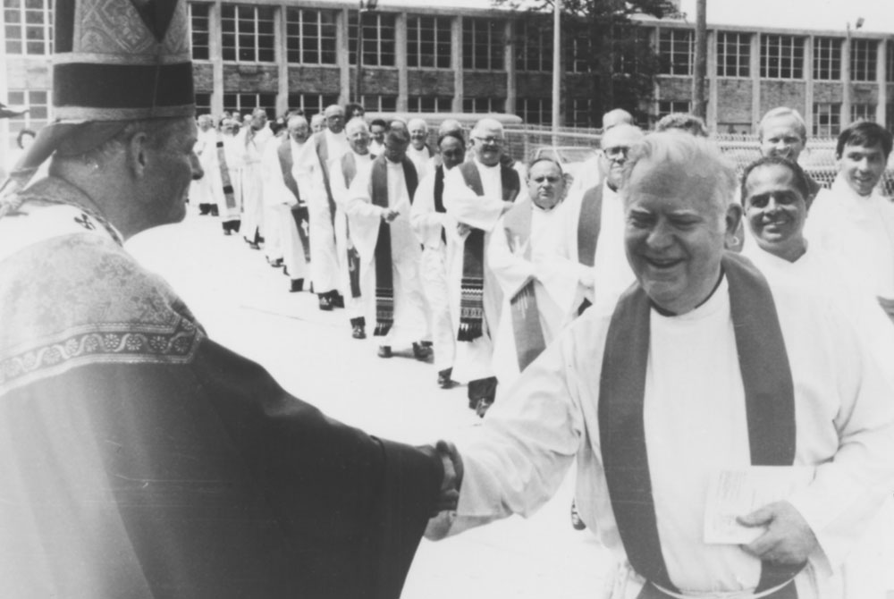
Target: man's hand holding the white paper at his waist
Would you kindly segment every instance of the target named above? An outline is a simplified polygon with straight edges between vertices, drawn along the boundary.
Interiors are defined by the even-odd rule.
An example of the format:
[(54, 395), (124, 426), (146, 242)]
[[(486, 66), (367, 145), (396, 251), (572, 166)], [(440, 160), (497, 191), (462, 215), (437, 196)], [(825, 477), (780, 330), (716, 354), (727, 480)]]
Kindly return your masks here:
[(747, 516), (738, 518), (746, 527), (766, 527), (763, 535), (743, 545), (746, 552), (761, 561), (782, 566), (795, 566), (807, 561), (819, 543), (800, 512), (789, 502), (764, 505)]

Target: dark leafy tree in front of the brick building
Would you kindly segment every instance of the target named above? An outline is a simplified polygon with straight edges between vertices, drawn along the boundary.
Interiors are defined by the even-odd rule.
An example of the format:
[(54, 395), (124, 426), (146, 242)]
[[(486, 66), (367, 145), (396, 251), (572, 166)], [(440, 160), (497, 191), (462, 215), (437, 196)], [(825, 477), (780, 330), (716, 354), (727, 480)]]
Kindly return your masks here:
[[(494, 5), (522, 13), (526, 30), (552, 31), (553, 0), (492, 0)], [(648, 30), (634, 17), (679, 16), (672, 0), (562, 0), (561, 28), (565, 72), (563, 100), (589, 97), (591, 121), (612, 108), (624, 108), (639, 122), (648, 119), (648, 106), (659, 71), (658, 55), (648, 43)], [(569, 68), (572, 61), (577, 68)]]

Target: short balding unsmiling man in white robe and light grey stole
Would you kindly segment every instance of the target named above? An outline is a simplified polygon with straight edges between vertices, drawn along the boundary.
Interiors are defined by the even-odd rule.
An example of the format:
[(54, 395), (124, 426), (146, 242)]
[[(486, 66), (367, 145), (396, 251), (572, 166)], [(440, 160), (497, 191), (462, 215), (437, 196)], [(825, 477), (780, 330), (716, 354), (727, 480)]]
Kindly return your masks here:
[(493, 344), (498, 395), (558, 336), (578, 289), (578, 265), (556, 259), (565, 232), (565, 177), (541, 158), (527, 168), (524, 198), (502, 216), (487, 257), (502, 287), (502, 310)]

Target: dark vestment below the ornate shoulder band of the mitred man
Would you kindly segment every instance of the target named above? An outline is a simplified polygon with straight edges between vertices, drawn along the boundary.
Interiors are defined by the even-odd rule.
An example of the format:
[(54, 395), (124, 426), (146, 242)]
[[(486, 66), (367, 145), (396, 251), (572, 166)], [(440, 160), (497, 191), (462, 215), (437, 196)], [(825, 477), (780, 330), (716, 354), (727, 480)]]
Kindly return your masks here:
[(3, 596), (396, 599), (443, 477), (207, 340), (0, 409)]

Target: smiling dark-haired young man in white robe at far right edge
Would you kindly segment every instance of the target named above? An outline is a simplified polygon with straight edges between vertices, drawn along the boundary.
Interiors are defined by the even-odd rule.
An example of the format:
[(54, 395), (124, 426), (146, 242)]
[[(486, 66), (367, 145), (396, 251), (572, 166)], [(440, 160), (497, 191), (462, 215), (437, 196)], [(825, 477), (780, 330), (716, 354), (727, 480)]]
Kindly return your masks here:
[(841, 257), (894, 320), (894, 204), (877, 189), (891, 153), (890, 131), (856, 122), (841, 131), (835, 152), (838, 176), (816, 197), (805, 234)]

